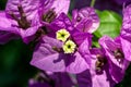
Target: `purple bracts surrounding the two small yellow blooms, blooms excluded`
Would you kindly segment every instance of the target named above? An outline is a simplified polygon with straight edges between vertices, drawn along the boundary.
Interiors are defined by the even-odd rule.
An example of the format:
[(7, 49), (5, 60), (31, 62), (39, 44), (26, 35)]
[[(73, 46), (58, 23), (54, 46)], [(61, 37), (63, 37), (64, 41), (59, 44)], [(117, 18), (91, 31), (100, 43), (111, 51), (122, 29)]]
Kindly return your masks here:
[[(88, 34), (83, 41), (82, 39), (73, 39), (73, 34), (78, 33), (78, 30), (72, 27), (70, 18), (64, 13), (61, 13), (60, 16), (55, 21), (56, 22), (52, 22), (51, 24), (53, 25), (52, 29), (55, 30), (52, 35), (55, 35), (61, 28), (64, 28), (71, 35), (68, 39), (73, 40), (73, 42), (81, 42), (80, 46), (76, 46), (78, 49), (75, 49), (73, 53), (64, 53), (64, 50), (61, 50), (64, 42), (56, 39), (56, 36), (45, 36), (43, 37), (40, 44), (36, 47), (31, 64), (40, 70), (50, 72), (80, 73), (85, 71), (90, 67), (90, 65), (85, 62), (83, 55), (86, 53), (86, 49), (88, 49), (88, 47), (86, 47), (83, 41), (88, 41)], [(76, 38), (76, 36), (74, 37)], [(82, 37), (81, 33), (80, 37)], [(81, 47), (81, 45), (83, 48), (85, 47), (85, 49), (80, 49), (79, 47)]]

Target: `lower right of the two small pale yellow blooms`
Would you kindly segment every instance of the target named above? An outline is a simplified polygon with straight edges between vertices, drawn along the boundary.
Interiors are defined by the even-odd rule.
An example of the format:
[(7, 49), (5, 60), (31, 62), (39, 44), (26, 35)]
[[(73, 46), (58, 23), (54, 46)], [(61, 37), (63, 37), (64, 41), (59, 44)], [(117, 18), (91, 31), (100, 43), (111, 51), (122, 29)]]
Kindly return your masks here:
[(62, 48), (64, 53), (73, 53), (75, 51), (76, 45), (72, 40), (68, 40)]

